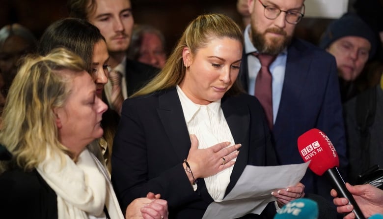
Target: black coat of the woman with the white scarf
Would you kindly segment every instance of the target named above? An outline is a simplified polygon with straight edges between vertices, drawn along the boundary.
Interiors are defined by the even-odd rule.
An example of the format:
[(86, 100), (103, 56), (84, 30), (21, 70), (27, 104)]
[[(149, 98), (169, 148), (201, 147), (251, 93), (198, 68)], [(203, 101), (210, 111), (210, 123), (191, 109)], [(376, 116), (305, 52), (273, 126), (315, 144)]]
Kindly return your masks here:
[(0, 215), (4, 219), (56, 219), (56, 193), (36, 170), (6, 171), (0, 174)]

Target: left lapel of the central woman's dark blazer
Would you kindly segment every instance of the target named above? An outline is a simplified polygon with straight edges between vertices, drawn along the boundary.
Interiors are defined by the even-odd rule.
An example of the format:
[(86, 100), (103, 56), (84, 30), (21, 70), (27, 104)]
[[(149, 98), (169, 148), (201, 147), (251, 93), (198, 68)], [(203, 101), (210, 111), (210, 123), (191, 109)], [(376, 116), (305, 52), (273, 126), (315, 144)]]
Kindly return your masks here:
[[(159, 96), (158, 115), (167, 137), (180, 160), (186, 159), (190, 150), (190, 137), (180, 99), (175, 88)], [(171, 121), (171, 122), (169, 122)]]

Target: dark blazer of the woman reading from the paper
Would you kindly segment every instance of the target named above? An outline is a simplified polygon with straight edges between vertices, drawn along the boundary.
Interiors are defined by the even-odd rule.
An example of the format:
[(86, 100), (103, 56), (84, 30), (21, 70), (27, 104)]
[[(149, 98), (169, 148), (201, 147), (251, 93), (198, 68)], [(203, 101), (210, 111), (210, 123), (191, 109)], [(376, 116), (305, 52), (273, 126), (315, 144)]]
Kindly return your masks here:
[[(221, 108), (235, 142), (242, 144), (227, 194), (247, 164), (275, 165), (276, 158), (255, 97), (224, 97)], [(190, 145), (175, 88), (125, 100), (114, 138), (111, 174), (123, 212), (131, 201), (151, 191), (168, 201), (169, 218), (202, 218), (213, 199), (203, 179), (198, 179), (195, 192), (190, 185), (182, 166)]]

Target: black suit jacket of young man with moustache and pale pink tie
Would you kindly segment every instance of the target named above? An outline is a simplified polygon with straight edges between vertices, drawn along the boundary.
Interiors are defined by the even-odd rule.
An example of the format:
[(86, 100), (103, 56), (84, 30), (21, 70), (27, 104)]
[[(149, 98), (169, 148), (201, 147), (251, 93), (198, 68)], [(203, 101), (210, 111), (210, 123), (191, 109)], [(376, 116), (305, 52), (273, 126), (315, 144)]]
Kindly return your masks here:
[(130, 96), (146, 85), (158, 72), (160, 72), (160, 69), (127, 59), (125, 72), (127, 92), (128, 96)]

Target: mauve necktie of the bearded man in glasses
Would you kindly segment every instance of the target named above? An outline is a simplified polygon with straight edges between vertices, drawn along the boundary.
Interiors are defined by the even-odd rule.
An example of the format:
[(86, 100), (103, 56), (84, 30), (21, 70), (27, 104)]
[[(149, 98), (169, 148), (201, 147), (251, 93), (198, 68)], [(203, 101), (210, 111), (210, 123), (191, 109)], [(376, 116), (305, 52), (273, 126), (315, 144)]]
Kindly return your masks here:
[(275, 56), (253, 53), (261, 63), (257, 78), (255, 79), (254, 95), (265, 111), (266, 119), (270, 129), (273, 129), (273, 89), (272, 75), (269, 69), (270, 64), (275, 60)]

